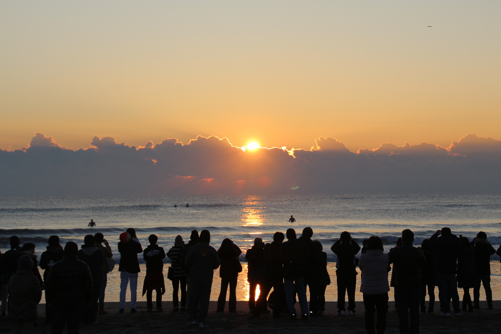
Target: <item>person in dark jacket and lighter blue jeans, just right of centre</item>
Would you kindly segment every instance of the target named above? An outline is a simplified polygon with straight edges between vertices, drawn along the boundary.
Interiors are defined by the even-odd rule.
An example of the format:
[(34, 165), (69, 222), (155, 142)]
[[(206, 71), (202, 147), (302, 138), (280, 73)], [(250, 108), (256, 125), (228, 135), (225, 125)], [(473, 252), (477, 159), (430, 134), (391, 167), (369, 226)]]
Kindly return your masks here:
[(303, 240), (296, 238), (293, 228), (287, 229), (287, 241), (280, 248), (280, 259), (284, 264), (284, 289), (291, 319), (296, 319), (294, 290), (301, 307), (301, 318), (308, 319), (308, 299), (306, 298), (305, 276), (308, 271), (308, 247)]

